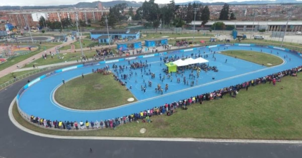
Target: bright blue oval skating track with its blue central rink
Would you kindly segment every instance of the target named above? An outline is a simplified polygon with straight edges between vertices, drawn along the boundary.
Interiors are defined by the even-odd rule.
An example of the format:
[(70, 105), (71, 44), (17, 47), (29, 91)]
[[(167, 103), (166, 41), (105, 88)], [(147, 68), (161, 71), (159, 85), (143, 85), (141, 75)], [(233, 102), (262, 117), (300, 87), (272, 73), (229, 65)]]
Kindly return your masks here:
[[(255, 64), (219, 53), (223, 50), (249, 51), (251, 49), (253, 51), (279, 57), (283, 62), (276, 66), (266, 67), (265, 65)], [(214, 52), (216, 53), (214, 54)], [(164, 58), (177, 56), (184, 58), (192, 56), (192, 58), (197, 58), (199, 53), (202, 57), (205, 55), (204, 58), (209, 60), (208, 65), (210, 67), (216, 67), (218, 71), (201, 71), (198, 77), (197, 71), (194, 71), (194, 79), (191, 79), (191, 70), (185, 70), (181, 74), (172, 73), (170, 78), (165, 74), (164, 70), (167, 67), (163, 62)], [(285, 56), (287, 57), (285, 58)], [(24, 89), (21, 90), (17, 96), (17, 103), (19, 110), (27, 116), (34, 115), (50, 120), (104, 120), (129, 115), (133, 112), (140, 112), (155, 106), (162, 106), (165, 103), (172, 103), (179, 99), (212, 92), (217, 89), (236, 85), (261, 76), (277, 73), (282, 70), (288, 70), (300, 66), (301, 61), (302, 59), (299, 56), (289, 53), (289, 50), (284, 48), (247, 44), (213, 45), (196, 49), (190, 48), (180, 51), (161, 53), (156, 56), (153, 54), (141, 56), (140, 58), (130, 57), (123, 60), (108, 60), (96, 64), (82, 64), (79, 66), (67, 67), (41, 76), (24, 86)], [(138, 100), (135, 103), (100, 110), (76, 110), (64, 107), (64, 105), (60, 105), (54, 100), (53, 96), (56, 89), (63, 84), (62, 79), (64, 79), (65, 82), (68, 82), (69, 80), (81, 76), (82, 73), (84, 75), (90, 74), (93, 73), (92, 70), (103, 69), (104, 67), (108, 67), (112, 73), (116, 73), (113, 69), (114, 65), (117, 65), (118, 67), (128, 67), (127, 69), (124, 69), (124, 72), (119, 72), (119, 75), (116, 75), (122, 75), (124, 78), (124, 74), (131, 73), (129, 68), (130, 63), (148, 64), (146, 69), (131, 69), (133, 73), (132, 77), (126, 77), (125, 79), (120, 79), (119, 77), (119, 80), (116, 81), (124, 82), (125, 89), (128, 88)], [(144, 72), (144, 69), (146, 70), (146, 73)], [(151, 77), (152, 75), (147, 75), (149, 72), (155, 74), (155, 77), (153, 78)], [(162, 79), (164, 75), (165, 79)], [(160, 76), (162, 78), (160, 78)], [(186, 76), (186, 79), (189, 81), (188, 84), (184, 84), (184, 82), (182, 82), (184, 76)], [(177, 82), (176, 78), (181, 78), (181, 82)], [(194, 84), (192, 85), (191, 82), (193, 80)], [(148, 86), (149, 81), (152, 82), (151, 87)], [(147, 86), (145, 86), (145, 83), (147, 83)], [(155, 88), (158, 85), (163, 87), (164, 90), (162, 93), (156, 93)], [(165, 90), (165, 85), (169, 86), (167, 90)], [(142, 91), (142, 87), (145, 87), (146, 89)], [(101, 104), (101, 101), (99, 101), (99, 103)]]

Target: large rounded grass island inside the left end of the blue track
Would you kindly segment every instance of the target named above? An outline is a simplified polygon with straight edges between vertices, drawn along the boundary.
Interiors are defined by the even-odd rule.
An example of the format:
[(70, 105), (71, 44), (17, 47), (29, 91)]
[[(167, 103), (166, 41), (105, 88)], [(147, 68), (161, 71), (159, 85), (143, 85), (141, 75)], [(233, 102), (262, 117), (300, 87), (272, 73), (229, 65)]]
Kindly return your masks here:
[(60, 86), (55, 93), (55, 100), (59, 104), (84, 110), (117, 107), (130, 103), (128, 98), (134, 96), (130, 91), (126, 91), (125, 86), (115, 81), (112, 75), (100, 73), (72, 79)]

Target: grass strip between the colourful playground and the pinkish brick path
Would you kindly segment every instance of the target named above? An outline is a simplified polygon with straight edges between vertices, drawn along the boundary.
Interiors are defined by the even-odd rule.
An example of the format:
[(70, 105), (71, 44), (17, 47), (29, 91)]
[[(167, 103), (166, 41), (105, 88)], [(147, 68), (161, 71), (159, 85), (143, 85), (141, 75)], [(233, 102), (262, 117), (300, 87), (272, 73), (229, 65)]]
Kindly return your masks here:
[[(25, 54), (25, 55), (21, 55), (21, 56), (15, 57), (15, 58), (9, 60), (8, 62), (5, 62), (5, 63), (1, 64), (1, 65), (0, 65), (0, 71), (3, 70), (3, 69), (5, 69), (5, 68), (7, 68), (7, 67), (10, 67), (10, 66), (12, 66), (12, 65), (14, 65), (14, 64), (17, 64), (17, 63), (19, 63), (20, 61), (23, 61), (23, 60), (25, 60), (25, 59), (27, 59), (27, 58), (29, 58), (29, 57), (32, 57), (32, 56), (34, 56), (35, 54), (40, 53), (41, 51), (44, 50), (44, 48), (49, 49), (49, 48), (52, 48), (52, 47), (54, 47), (54, 46), (50, 46), (50, 45), (41, 45), (41, 46), (38, 48), (38, 50), (36, 50), (36, 51), (33, 51), (33, 52), (31, 52), (31, 53), (28, 53), (28, 54)], [(21, 66), (21, 65), (20, 65), (20, 66)]]

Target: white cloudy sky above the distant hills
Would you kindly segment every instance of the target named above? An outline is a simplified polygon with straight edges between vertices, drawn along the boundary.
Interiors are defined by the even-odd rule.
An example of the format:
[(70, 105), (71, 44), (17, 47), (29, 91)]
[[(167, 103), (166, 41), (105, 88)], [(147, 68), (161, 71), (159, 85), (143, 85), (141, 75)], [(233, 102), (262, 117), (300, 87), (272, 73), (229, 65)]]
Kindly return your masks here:
[[(94, 2), (97, 0), (3, 0), (0, 3), (0, 6), (3, 5), (17, 5), (17, 6), (34, 6), (34, 5), (71, 5), (71, 4), (76, 4), (78, 2)], [(112, 0), (101, 0), (101, 2), (108, 2)], [(143, 2), (144, 0), (131, 0), (131, 1), (136, 1), (136, 2)], [(169, 3), (170, 0), (155, 0), (156, 3)], [(176, 3), (180, 2), (188, 2), (188, 1), (193, 1), (193, 0), (175, 0)], [(247, 0), (202, 0), (202, 2), (232, 2), (232, 1), (237, 1), (237, 2), (243, 2)]]

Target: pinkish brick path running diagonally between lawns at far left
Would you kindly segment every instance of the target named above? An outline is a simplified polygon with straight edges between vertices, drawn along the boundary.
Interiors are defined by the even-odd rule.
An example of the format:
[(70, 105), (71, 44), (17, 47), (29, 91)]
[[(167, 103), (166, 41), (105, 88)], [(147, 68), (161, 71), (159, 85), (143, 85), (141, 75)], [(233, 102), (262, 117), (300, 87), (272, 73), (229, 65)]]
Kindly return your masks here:
[[(83, 37), (84, 37), (84, 36), (83, 36)], [(65, 43), (62, 43), (62, 44), (60, 44), (60, 45), (56, 45), (56, 46), (54, 46), (54, 47), (52, 47), (52, 48), (49, 48), (49, 49), (47, 49), (47, 50), (45, 50), (45, 51), (41, 51), (40, 53), (38, 53), (38, 54), (36, 54), (36, 55), (34, 55), (34, 56), (32, 56), (32, 57), (29, 57), (29, 58), (27, 58), (27, 59), (25, 59), (25, 60), (23, 60), (23, 61), (21, 61), (21, 62), (19, 62), (19, 63), (17, 63), (17, 64), (14, 64), (14, 65), (12, 65), (12, 66), (10, 66), (10, 67), (8, 67), (8, 68), (6, 68), (6, 69), (0, 71), (0, 77), (3, 77), (3, 76), (5, 76), (5, 75), (7, 75), (7, 74), (9, 74), (9, 73), (11, 73), (11, 72), (17, 70), (17, 69), (18, 69), (17, 66), (23, 67), (25, 64), (31, 63), (31, 62), (33, 62), (34, 60), (37, 60), (37, 59), (41, 58), (41, 57), (42, 57), (42, 54), (45, 54), (45, 52), (46, 52), (46, 53), (49, 53), (50, 51), (53, 52), (53, 51), (55, 51), (56, 47), (58, 47), (58, 46), (70, 45), (70, 44), (73, 43), (73, 42), (76, 42), (76, 41), (70, 40), (70, 41), (67, 41), (67, 42), (65, 42)]]

